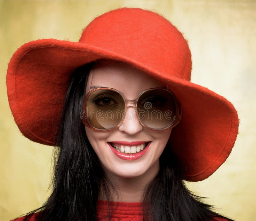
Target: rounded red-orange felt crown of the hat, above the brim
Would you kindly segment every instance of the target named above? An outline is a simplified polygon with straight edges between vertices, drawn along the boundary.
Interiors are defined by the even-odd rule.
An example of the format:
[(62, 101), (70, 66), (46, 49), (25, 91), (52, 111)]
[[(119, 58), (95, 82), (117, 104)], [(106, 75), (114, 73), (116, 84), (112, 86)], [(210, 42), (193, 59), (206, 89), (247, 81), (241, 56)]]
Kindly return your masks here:
[(181, 32), (163, 16), (141, 8), (119, 8), (96, 17), (83, 30), (80, 43), (117, 57), (150, 64), (166, 78), (190, 81), (191, 53)]

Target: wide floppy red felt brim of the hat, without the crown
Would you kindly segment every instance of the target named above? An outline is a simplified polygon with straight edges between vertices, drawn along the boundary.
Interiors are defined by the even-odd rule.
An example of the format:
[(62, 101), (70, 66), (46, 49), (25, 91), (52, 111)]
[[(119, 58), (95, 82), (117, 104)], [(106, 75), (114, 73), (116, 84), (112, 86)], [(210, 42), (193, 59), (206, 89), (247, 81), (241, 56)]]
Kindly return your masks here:
[(86, 43), (56, 39), (22, 45), (8, 66), (9, 105), (25, 137), (55, 146), (54, 136), (71, 73), (100, 58), (133, 64), (168, 85), (175, 94), (182, 108), (182, 119), (173, 128), (169, 144), (182, 162), (185, 180), (204, 180), (226, 161), (239, 124), (236, 109), (227, 99), (190, 81), (164, 76), (121, 54)]

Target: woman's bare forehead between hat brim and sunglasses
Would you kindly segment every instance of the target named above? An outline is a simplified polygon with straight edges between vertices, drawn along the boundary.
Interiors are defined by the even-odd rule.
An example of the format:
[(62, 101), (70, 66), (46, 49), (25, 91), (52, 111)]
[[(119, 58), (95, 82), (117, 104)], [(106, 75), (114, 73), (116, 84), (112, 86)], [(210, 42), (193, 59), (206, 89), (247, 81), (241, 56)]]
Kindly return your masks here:
[[(92, 87), (90, 89), (90, 87)], [(86, 92), (94, 87), (110, 87), (120, 92), (134, 91), (138, 94), (148, 88), (163, 84), (147, 73), (123, 62), (96, 64), (90, 71)]]

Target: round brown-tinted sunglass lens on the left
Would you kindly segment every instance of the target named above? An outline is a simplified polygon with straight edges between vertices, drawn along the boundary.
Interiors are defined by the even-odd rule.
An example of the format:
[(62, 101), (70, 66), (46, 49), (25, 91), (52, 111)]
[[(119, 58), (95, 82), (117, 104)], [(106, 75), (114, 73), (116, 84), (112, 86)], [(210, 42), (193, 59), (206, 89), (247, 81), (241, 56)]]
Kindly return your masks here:
[(108, 130), (115, 127), (124, 115), (124, 99), (112, 90), (93, 91), (86, 101), (86, 119), (94, 128)]

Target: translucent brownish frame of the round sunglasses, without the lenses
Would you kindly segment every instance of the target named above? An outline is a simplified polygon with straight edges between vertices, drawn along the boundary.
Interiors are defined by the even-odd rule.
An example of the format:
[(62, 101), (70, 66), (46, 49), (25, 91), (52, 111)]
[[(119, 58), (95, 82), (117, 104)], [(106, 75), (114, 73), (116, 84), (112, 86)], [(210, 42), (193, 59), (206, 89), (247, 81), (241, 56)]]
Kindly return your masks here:
[[(85, 111), (86, 101), (87, 101), (88, 97), (90, 96), (90, 94), (91, 94), (92, 92), (94, 92), (94, 91), (98, 91), (98, 90), (102, 90), (102, 89), (103, 89), (103, 90), (116, 91), (117, 93), (119, 93), (119, 94), (122, 96), (122, 98), (124, 99), (124, 104), (125, 104), (124, 111), (125, 111), (125, 113), (127, 113), (127, 107), (134, 107), (134, 109), (136, 110), (136, 116), (137, 116), (137, 118), (138, 118), (140, 124), (141, 124), (143, 127), (147, 128), (147, 129), (150, 129), (150, 130), (167, 130), (167, 129), (171, 129), (171, 128), (177, 126), (178, 123), (179, 123), (180, 120), (181, 120), (181, 107), (180, 107), (180, 103), (179, 103), (178, 99), (175, 97), (175, 95), (172, 93), (172, 91), (170, 91), (170, 90), (168, 90), (168, 89), (166, 89), (166, 88), (159, 88), (159, 87), (156, 87), (156, 88), (149, 88), (149, 89), (147, 89), (147, 90), (145, 90), (145, 91), (142, 91), (134, 100), (126, 99), (126, 98), (124, 97), (124, 95), (123, 95), (120, 91), (118, 91), (118, 90), (116, 90), (116, 89), (114, 89), (114, 88), (108, 88), (108, 87), (96, 88), (96, 89), (93, 89), (93, 90), (89, 91), (89, 92), (86, 94), (86, 96), (85, 96), (85, 98), (84, 98), (83, 111)], [(163, 128), (163, 129), (153, 129), (153, 128), (149, 128), (149, 127), (147, 127), (146, 125), (144, 125), (144, 123), (143, 123), (143, 122), (141, 121), (141, 119), (138, 117), (138, 111), (137, 111), (137, 101), (138, 101), (138, 99), (139, 99), (140, 96), (141, 96), (142, 94), (144, 94), (145, 92), (147, 92), (147, 91), (152, 91), (152, 90), (156, 90), (156, 89), (161, 89), (161, 90), (165, 90), (165, 91), (170, 92), (170, 94), (172, 95), (172, 97), (173, 97), (173, 99), (174, 99), (174, 102), (175, 102), (175, 111), (176, 111), (176, 114), (174, 115), (174, 117), (176, 117), (176, 119), (174, 119), (173, 123), (172, 123), (170, 126), (168, 126), (168, 127), (166, 127), (166, 128)], [(117, 127), (119, 127), (119, 126), (123, 123), (124, 118), (125, 118), (125, 117), (123, 117), (122, 120), (121, 120), (115, 127), (110, 128), (110, 129), (98, 129), (98, 128), (92, 127), (92, 126), (89, 124), (89, 122), (87, 121), (87, 118), (82, 119), (82, 122), (83, 122), (83, 124), (84, 124), (85, 126), (91, 128), (91, 129), (93, 129), (93, 130), (97, 130), (97, 131), (109, 131), (109, 130), (114, 130), (114, 129), (116, 129)]]

